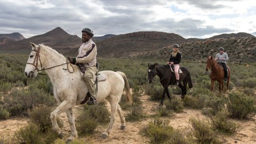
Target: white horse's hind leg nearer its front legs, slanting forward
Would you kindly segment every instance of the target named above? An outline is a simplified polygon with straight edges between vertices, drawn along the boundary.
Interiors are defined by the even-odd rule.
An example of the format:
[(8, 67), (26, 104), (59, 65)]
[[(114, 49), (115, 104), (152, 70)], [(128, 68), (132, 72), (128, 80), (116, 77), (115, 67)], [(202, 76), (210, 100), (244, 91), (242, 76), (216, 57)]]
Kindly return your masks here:
[(109, 136), (116, 119), (117, 104), (110, 103), (110, 109), (111, 109), (110, 124), (108, 126), (108, 129), (102, 133), (101, 138), (107, 138)]

